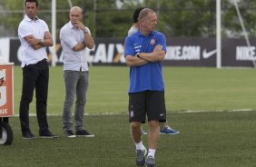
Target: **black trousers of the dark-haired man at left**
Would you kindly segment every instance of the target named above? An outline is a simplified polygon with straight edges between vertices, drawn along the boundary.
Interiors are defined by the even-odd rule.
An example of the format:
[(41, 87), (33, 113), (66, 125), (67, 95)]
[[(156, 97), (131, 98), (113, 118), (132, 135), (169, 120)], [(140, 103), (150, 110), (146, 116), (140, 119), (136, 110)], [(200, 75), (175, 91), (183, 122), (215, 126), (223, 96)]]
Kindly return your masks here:
[(21, 130), (23, 134), (30, 132), (29, 104), (33, 100), (34, 88), (39, 134), (48, 131), (48, 123), (46, 118), (48, 83), (49, 65), (45, 59), (37, 64), (25, 65), (23, 68), (23, 88), (19, 109)]

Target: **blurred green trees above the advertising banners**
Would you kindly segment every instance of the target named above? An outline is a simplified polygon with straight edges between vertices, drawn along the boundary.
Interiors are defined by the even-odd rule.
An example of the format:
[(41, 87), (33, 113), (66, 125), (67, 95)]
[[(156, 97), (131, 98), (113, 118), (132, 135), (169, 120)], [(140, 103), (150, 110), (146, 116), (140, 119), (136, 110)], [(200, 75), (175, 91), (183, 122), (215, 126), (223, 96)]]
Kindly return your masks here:
[[(70, 6), (67, 0), (57, 1), (57, 32), (69, 21)], [(84, 23), (95, 37), (123, 38), (133, 25), (133, 10), (150, 7), (158, 14), (157, 29), (168, 37), (215, 37), (216, 0), (72, 0), (73, 5), (84, 9)], [(51, 28), (51, 0), (39, 0), (38, 16)], [(24, 1), (1, 1), (0, 26), (17, 35), (17, 26), (24, 17)], [(256, 33), (256, 1), (238, 3), (241, 16), (250, 37)], [(0, 6), (0, 7), (1, 7)], [(233, 0), (222, 0), (222, 36), (241, 37), (242, 30)]]

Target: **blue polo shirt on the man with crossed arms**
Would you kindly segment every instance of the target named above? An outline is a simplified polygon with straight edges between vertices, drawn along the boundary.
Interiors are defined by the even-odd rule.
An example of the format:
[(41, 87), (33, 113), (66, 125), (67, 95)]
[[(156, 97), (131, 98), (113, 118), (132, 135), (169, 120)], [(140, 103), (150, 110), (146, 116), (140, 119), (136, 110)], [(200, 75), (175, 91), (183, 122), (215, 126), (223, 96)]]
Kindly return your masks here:
[[(144, 36), (140, 31), (125, 38), (124, 56), (137, 53), (152, 53), (153, 48), (161, 44), (166, 52), (166, 41), (164, 34), (153, 31)], [(143, 91), (164, 91), (162, 78), (162, 62), (153, 62), (130, 68), (130, 87), (128, 93), (139, 93)]]

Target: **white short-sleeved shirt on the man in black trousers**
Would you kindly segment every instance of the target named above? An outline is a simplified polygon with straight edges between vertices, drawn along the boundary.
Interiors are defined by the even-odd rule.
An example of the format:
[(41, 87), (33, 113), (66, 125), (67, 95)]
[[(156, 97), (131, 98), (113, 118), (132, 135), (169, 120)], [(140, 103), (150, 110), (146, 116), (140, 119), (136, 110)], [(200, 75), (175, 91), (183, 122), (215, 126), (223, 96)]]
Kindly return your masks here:
[(25, 36), (30, 34), (33, 34), (35, 38), (44, 39), (45, 32), (49, 32), (49, 28), (44, 20), (41, 20), (38, 17), (36, 17), (35, 20), (32, 20), (25, 15), (18, 27), (18, 36), (23, 48), (22, 67), (28, 64), (36, 64), (43, 59), (47, 59), (46, 47), (34, 50), (34, 48), (25, 41)]

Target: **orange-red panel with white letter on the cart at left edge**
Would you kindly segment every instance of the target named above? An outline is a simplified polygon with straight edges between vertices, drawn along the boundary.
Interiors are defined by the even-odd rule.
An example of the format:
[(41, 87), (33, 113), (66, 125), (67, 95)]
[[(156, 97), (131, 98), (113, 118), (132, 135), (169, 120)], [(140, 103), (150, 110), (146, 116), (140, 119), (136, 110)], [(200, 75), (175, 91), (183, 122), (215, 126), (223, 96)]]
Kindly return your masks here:
[(0, 117), (14, 114), (14, 64), (0, 64)]

